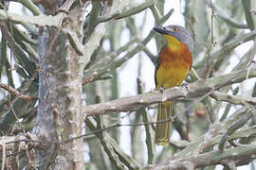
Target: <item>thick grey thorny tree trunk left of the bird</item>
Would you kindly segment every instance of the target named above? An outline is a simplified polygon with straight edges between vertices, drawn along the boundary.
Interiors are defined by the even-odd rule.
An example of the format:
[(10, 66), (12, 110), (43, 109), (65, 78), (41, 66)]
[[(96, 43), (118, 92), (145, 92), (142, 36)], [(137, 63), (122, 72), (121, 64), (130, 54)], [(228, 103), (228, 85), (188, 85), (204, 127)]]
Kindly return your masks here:
[[(40, 59), (46, 61), (39, 73), (38, 116), (33, 132), (46, 141), (64, 142), (82, 135), (82, 74), (85, 63), (68, 41), (66, 33), (72, 29), (82, 42), (82, 12), (76, 12), (70, 15), (72, 22), (61, 31), (47, 28), (40, 36)], [(82, 138), (45, 146), (47, 151), (39, 154), (46, 160), (42, 169), (84, 169)]]

